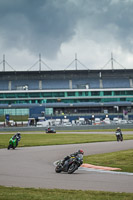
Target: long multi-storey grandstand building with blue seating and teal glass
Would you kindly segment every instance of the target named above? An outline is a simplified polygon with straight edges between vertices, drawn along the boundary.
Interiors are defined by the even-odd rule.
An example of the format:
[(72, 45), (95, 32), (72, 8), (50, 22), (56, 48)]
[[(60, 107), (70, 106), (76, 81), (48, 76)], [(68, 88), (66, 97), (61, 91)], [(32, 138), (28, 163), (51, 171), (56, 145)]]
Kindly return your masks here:
[(33, 109), (36, 117), (124, 111), (132, 117), (133, 70), (0, 72), (0, 115), (30, 116)]

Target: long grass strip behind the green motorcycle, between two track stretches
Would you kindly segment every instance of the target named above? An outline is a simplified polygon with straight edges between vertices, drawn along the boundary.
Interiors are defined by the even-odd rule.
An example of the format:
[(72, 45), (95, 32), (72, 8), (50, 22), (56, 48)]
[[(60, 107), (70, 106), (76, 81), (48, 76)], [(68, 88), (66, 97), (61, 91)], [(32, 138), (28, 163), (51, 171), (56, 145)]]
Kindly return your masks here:
[[(60, 144), (78, 144), (90, 142), (116, 141), (114, 134), (21, 134), (19, 147), (46, 146)], [(0, 134), (0, 148), (7, 148), (11, 134)], [(133, 135), (124, 135), (124, 140), (133, 139)]]

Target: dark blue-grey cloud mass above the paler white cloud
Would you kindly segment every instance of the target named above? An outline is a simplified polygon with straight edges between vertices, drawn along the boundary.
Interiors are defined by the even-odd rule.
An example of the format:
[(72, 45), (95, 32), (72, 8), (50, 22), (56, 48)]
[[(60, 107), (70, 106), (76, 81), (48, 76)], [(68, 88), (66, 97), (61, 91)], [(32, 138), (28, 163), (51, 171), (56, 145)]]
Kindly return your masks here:
[(3, 48), (52, 58), (79, 25), (88, 39), (105, 42), (109, 33), (133, 51), (132, 16), (133, 2), (127, 0), (0, 0), (0, 37)]

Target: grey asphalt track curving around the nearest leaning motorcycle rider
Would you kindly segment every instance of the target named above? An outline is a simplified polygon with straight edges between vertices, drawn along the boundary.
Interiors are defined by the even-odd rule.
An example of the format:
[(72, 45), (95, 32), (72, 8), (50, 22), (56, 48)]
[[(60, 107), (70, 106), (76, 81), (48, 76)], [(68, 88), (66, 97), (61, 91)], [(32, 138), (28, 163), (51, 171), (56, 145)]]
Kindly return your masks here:
[(133, 193), (133, 175), (77, 170), (55, 173), (53, 163), (82, 148), (85, 155), (133, 148), (133, 140), (0, 149), (0, 185)]

